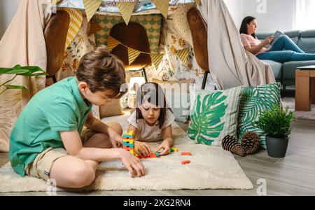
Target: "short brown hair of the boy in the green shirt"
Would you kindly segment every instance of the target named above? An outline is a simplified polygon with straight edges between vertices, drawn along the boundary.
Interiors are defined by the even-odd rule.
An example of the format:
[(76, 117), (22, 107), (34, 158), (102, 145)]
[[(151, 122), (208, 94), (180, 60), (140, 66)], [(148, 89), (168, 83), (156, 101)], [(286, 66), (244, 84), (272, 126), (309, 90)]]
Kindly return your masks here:
[(113, 98), (127, 92), (123, 62), (102, 45), (85, 54), (76, 71), (76, 78), (87, 83), (91, 92), (113, 90)]

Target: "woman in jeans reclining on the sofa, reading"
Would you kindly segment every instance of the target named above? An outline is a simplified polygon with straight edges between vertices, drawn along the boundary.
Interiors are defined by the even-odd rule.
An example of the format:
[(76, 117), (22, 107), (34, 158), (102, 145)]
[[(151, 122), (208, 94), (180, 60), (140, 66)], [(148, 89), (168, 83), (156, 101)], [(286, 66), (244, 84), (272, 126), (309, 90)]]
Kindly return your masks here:
[[(263, 41), (258, 40), (255, 36), (256, 29), (257, 20), (247, 16), (241, 22), (239, 33), (245, 50), (256, 55), (258, 59), (271, 59), (276, 62), (315, 60), (315, 54), (305, 53), (286, 35), (279, 36), (274, 42), (274, 36), (267, 36)], [(265, 45), (270, 43), (272, 45), (265, 48)]]

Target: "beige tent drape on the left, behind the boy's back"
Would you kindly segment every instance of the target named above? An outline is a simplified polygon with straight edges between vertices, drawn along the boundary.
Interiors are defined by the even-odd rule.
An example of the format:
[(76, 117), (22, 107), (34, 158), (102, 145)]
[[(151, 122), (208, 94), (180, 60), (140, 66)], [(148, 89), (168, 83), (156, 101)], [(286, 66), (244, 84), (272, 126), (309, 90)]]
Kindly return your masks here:
[[(17, 13), (0, 41), (0, 66), (13, 67), (47, 65), (43, 29), (51, 10), (48, 0), (22, 0)], [(13, 78), (0, 75), (0, 83)], [(6, 90), (0, 95), (0, 151), (8, 151), (10, 130), (20, 111), (32, 95), (45, 87), (45, 76), (19, 76), (11, 85), (24, 85), (29, 91)]]

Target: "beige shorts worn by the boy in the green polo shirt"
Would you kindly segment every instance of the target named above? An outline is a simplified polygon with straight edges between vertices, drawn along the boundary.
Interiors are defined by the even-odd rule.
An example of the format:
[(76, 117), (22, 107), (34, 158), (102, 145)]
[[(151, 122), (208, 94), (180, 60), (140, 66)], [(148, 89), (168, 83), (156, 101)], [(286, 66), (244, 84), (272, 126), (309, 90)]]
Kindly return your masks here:
[[(97, 132), (89, 129), (83, 130), (80, 135), (82, 144), (85, 144), (94, 134), (97, 134)], [(36, 156), (34, 162), (31, 162), (27, 166), (25, 173), (29, 176), (35, 176), (47, 181), (50, 179), (50, 170), (55, 160), (66, 155), (68, 155), (68, 153), (64, 148), (47, 148)]]

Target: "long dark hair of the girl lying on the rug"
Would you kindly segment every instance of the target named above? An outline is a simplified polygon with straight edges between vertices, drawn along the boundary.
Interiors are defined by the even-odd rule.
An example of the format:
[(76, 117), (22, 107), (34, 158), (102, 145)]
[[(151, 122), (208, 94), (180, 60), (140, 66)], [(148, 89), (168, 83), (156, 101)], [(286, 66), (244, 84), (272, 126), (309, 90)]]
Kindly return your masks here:
[[(160, 116), (158, 120), (159, 127), (161, 129), (165, 123), (167, 109), (169, 108), (167, 108), (165, 94), (162, 90), (162, 87), (158, 85), (158, 83), (144, 83), (144, 85), (142, 85), (141, 88), (138, 88), (136, 108), (137, 120), (144, 119), (144, 116), (142, 116), (140, 110), (140, 106), (141, 104), (144, 104), (146, 102), (154, 104), (155, 106), (158, 106), (160, 108)], [(171, 109), (169, 110), (172, 111)]]

